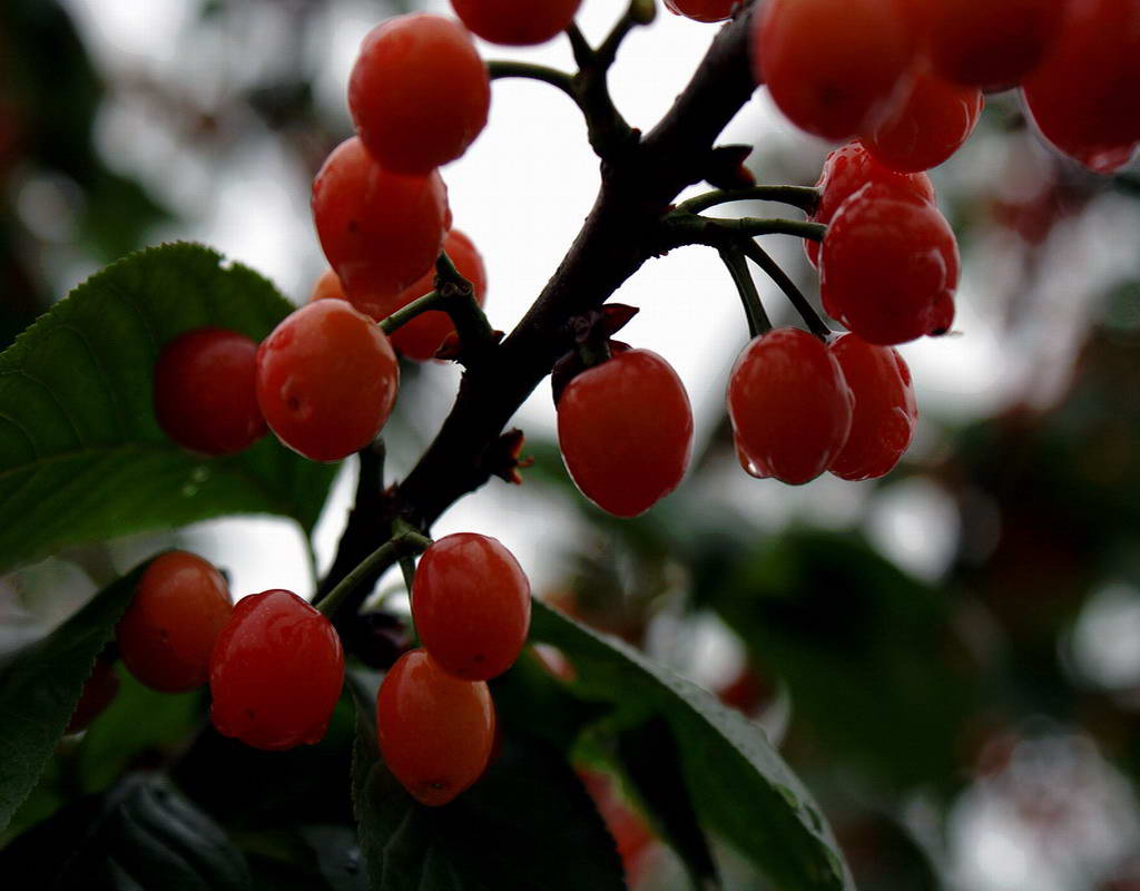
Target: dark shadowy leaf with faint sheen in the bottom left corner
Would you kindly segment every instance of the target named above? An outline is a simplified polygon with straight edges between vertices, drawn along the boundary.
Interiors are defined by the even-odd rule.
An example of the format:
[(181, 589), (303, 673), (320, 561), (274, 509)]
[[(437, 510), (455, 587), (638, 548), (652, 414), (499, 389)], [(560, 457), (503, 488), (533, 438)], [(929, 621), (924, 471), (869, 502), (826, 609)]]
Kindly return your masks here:
[(221, 828), (170, 781), (135, 773), (17, 839), (7, 875), (46, 888), (247, 891), (250, 869)]

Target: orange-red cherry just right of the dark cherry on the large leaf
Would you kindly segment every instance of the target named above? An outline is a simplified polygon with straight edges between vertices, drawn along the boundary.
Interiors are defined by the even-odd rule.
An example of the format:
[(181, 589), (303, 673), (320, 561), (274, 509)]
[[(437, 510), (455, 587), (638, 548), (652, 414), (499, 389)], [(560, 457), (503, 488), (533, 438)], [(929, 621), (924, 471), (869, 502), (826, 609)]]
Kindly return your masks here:
[(258, 349), (258, 404), (270, 429), (314, 461), (337, 461), (384, 426), (400, 380), (396, 353), (343, 300), (298, 309)]

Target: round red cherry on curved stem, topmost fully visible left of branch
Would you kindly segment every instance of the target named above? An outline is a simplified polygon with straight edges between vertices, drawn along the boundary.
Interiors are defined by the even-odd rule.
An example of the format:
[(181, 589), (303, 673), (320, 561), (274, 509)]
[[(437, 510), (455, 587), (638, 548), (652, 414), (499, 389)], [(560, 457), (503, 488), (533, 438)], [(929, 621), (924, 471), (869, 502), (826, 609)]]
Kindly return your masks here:
[(459, 157), (487, 125), (490, 104), (487, 66), (471, 34), (426, 13), (376, 25), (349, 79), (360, 140), (393, 173), (431, 173)]

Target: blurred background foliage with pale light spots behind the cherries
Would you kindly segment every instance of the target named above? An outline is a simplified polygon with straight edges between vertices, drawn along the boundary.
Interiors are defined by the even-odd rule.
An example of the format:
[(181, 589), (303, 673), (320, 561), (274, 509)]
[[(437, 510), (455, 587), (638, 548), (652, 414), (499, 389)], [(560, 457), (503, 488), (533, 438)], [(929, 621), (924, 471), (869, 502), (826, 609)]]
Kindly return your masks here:
[[(96, 58), (99, 6), (0, 5), (2, 346), (130, 250), (217, 233), (220, 195), (263, 162), (267, 144), (306, 183), (347, 119), (323, 98), (304, 35), (361, 7), (374, 19), (402, 9), (184, 3), (179, 41), (206, 59), (189, 81), (186, 59), (108, 62), (105, 48)], [(814, 181), (824, 147), (780, 130), (757, 138), (764, 181)], [(777, 492), (746, 480), (724, 421), (685, 485), (633, 521), (586, 504), (556, 445), (531, 436), (523, 488), (561, 530), (538, 593), (764, 726), (824, 804), (863, 891), (1137, 891), (1140, 172), (1076, 170), (1001, 96), (935, 176), (968, 270), (963, 337), (990, 322), (993, 346), (976, 361), (997, 363), (982, 376), (999, 383), (964, 407), (920, 404), (904, 464), (857, 486)], [(288, 225), (307, 226), (303, 216)], [(815, 289), (796, 250), (781, 259)], [(318, 272), (309, 264), (286, 284), (300, 292)], [(423, 380), (431, 372), (408, 368), (408, 390), (446, 400)], [(408, 390), (401, 399), (415, 405)], [(430, 429), (413, 415), (388, 436), (392, 452), (414, 455)], [(58, 622), (148, 548), (84, 549), (0, 580), (0, 643)], [(103, 722), (52, 763), (23, 825), (104, 791), (128, 766), (170, 758), (201, 719), (193, 696), (123, 683)], [(319, 872), (321, 840), (343, 834), (344, 802), (327, 789), (301, 803), (228, 800), (223, 781), (207, 781), (211, 766), (259, 768), (214, 752), (227, 745), (199, 743), (176, 779), (267, 874), (288, 872), (280, 850), (298, 839), (262, 831), (259, 816), (306, 815), (319, 825), (294, 834)], [(318, 747), (296, 770), (336, 758)], [(636, 795), (586, 776), (633, 884), (684, 886)], [(731, 851), (718, 856), (726, 888), (763, 888)]]

